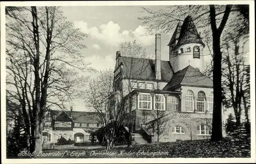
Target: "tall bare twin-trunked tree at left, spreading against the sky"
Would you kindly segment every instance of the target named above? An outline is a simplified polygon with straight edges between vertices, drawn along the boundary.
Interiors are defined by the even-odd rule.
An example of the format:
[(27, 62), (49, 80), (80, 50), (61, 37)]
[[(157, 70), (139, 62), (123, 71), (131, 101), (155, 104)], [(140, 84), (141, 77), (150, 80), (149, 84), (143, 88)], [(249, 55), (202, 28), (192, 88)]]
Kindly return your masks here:
[(20, 102), (29, 150), (39, 152), (46, 110), (65, 110), (65, 102), (82, 94), (87, 77), (80, 74), (89, 68), (79, 50), (87, 35), (73, 29), (58, 7), (7, 11), (7, 96)]

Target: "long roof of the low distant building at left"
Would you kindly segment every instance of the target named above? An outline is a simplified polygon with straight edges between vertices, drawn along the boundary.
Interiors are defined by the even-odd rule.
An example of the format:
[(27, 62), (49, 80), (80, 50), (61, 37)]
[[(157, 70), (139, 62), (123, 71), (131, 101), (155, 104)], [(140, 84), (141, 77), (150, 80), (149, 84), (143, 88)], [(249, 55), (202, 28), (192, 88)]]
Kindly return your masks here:
[(74, 121), (77, 123), (98, 123), (96, 112), (62, 111), (56, 120)]

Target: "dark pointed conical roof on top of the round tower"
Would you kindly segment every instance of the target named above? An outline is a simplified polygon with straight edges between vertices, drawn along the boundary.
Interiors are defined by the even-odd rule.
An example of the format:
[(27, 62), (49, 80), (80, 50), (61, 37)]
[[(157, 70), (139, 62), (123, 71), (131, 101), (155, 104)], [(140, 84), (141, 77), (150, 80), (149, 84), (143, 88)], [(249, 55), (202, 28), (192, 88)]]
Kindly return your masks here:
[(200, 43), (203, 46), (205, 44), (201, 40), (194, 21), (190, 15), (188, 15), (181, 26), (180, 36), (177, 46), (181, 46), (187, 43)]

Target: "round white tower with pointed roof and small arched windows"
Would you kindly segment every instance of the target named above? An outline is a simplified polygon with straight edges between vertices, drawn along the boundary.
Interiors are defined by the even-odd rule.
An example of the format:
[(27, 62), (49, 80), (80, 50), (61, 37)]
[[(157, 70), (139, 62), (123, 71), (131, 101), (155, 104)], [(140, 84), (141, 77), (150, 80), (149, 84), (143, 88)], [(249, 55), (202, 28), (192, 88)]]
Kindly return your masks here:
[(187, 16), (183, 23), (179, 21), (172, 38), (169, 41), (169, 61), (177, 72), (188, 65), (203, 72), (203, 48), (197, 28), (191, 16)]

